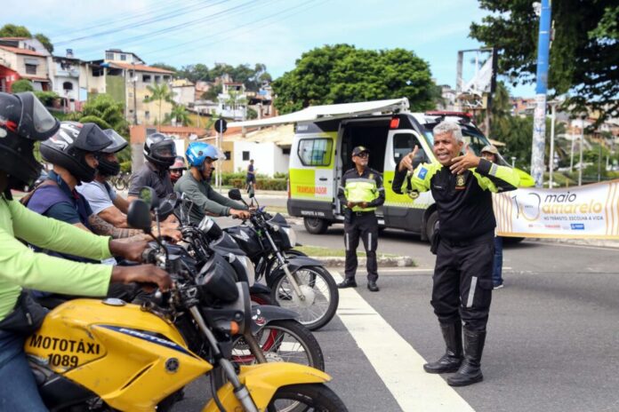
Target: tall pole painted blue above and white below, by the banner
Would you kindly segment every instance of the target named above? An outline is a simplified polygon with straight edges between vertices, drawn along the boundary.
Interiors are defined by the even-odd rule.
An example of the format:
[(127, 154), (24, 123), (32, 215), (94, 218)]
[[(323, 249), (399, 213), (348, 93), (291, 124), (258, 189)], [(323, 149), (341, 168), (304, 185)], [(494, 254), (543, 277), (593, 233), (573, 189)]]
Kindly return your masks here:
[(535, 87), (535, 116), (531, 150), (531, 175), (535, 187), (543, 186), (543, 152), (546, 135), (546, 92), (548, 91), (548, 60), (551, 44), (551, 0), (542, 0), (540, 29), (537, 41), (537, 85)]

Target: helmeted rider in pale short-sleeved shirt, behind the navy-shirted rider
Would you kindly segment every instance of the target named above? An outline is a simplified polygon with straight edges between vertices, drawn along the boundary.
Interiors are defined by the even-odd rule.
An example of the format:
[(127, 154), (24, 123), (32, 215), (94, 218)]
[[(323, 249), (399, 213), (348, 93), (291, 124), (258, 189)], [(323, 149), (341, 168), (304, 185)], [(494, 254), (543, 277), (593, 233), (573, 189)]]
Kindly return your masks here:
[[(109, 185), (108, 180), (120, 172), (120, 162), (117, 153), (128, 146), (127, 141), (116, 131), (108, 129), (103, 131), (112, 144), (101, 149), (99, 156), (99, 166), (92, 182), (82, 183), (76, 186), (77, 192), (82, 194), (90, 204), (92, 213), (117, 228), (129, 227), (127, 223), (127, 210), (129, 202), (120, 194), (117, 194), (114, 187)], [(161, 226), (161, 233), (173, 238), (175, 241), (181, 240), (181, 232), (177, 230), (176, 224), (165, 224)], [(157, 230), (153, 230), (156, 233)]]

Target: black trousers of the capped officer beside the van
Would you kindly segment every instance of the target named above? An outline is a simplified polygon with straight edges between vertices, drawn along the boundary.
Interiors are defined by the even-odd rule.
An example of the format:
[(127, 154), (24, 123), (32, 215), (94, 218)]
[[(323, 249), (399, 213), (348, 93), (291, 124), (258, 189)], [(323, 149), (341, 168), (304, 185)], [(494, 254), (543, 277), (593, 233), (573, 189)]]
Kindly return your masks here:
[(363, 241), (367, 256), (367, 280), (378, 279), (376, 248), (378, 247), (378, 220), (371, 213), (356, 214), (352, 212), (350, 222), (344, 222), (344, 245), (346, 246), (346, 279), (355, 279), (357, 273), (357, 247), (359, 238)]

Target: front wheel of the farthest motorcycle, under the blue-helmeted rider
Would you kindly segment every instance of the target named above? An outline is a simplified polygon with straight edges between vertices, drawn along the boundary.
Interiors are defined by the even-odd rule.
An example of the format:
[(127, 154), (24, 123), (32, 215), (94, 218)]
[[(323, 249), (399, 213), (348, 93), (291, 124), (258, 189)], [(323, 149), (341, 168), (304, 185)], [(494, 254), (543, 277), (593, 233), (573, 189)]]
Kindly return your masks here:
[[(303, 266), (296, 274), (301, 278), (301, 285), (310, 287), (315, 293), (313, 303), (309, 307), (296, 302), (293, 296), (294, 290), (283, 272), (277, 274), (269, 284), (271, 297), (279, 306), (299, 313), (298, 321), (303, 326), (310, 330), (318, 330), (329, 323), (337, 311), (340, 301), (337, 284), (331, 273), (322, 266)], [(320, 307), (317, 305), (317, 299), (320, 300)]]

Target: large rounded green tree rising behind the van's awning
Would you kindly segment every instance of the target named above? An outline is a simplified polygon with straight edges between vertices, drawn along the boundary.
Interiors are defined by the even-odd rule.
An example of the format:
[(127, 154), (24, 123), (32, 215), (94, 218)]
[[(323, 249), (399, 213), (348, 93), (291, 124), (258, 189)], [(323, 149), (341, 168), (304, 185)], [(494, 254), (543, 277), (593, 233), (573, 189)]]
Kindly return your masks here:
[(363, 50), (349, 44), (305, 52), (272, 83), (280, 113), (303, 107), (406, 97), (413, 110), (435, 107), (430, 67), (405, 49)]

